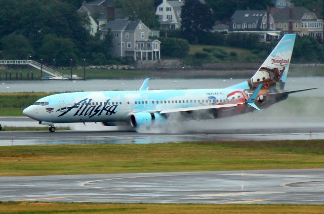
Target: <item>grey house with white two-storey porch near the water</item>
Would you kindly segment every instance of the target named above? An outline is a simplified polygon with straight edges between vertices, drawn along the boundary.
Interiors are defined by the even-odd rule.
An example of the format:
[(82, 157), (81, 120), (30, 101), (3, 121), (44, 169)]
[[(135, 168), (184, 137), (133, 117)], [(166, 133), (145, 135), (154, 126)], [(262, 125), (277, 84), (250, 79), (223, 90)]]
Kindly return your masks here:
[(161, 42), (149, 39), (152, 31), (142, 21), (110, 20), (102, 28), (102, 32), (107, 33), (109, 29), (114, 35), (113, 55), (132, 57), (135, 60), (160, 59)]

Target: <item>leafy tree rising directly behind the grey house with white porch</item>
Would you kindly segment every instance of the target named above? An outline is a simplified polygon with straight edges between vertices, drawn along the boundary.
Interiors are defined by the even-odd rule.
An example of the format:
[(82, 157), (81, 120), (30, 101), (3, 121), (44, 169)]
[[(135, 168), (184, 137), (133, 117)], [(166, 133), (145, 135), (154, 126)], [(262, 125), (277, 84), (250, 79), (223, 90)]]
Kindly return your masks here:
[(140, 19), (149, 28), (159, 26), (153, 0), (117, 0), (116, 6), (121, 7), (131, 20)]

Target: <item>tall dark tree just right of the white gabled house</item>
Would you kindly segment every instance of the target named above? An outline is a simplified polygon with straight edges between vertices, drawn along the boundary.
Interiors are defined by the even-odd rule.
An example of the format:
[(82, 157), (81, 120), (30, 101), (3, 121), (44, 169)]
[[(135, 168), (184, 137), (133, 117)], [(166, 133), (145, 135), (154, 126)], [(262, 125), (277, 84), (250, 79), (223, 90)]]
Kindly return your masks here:
[(198, 0), (186, 0), (181, 7), (181, 31), (188, 35), (189, 41), (197, 42), (199, 33), (211, 30), (215, 24), (210, 8)]

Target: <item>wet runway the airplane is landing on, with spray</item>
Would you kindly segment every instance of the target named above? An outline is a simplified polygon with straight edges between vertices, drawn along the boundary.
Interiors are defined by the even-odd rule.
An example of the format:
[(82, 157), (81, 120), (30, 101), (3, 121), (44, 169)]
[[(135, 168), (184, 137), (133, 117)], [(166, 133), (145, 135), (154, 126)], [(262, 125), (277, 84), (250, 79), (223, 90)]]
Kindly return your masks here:
[[(0, 120), (2, 125), (7, 126), (13, 123), (17, 126), (40, 126), (36, 121), (27, 117), (0, 117)], [(227, 119), (226, 122), (228, 122), (227, 125), (224, 125), (223, 119), (192, 121), (189, 123), (190, 127), (173, 134), (154, 129), (141, 132), (117, 131), (116, 127), (102, 126), (100, 123), (87, 123), (86, 126), (82, 123), (56, 124), (57, 126), (71, 126), (73, 130), (56, 131), (55, 133), (49, 131), (2, 131), (0, 132), (0, 146), (324, 139), (324, 123), (321, 121), (268, 122), (265, 124)], [(215, 123), (220, 125), (217, 126)], [(181, 123), (181, 127), (185, 124)], [(204, 129), (196, 129), (201, 126), (204, 126)]]

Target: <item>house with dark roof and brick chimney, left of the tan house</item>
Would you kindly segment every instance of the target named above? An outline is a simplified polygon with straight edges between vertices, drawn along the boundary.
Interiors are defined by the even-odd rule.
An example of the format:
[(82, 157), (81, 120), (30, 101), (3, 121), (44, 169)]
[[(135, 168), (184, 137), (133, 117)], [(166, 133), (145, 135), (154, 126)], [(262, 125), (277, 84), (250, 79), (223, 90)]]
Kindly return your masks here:
[(261, 42), (278, 38), (280, 31), (275, 30), (270, 9), (235, 11), (229, 23), (229, 32), (258, 33)]

